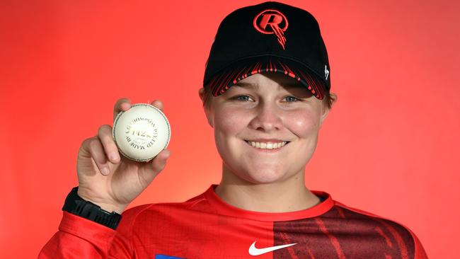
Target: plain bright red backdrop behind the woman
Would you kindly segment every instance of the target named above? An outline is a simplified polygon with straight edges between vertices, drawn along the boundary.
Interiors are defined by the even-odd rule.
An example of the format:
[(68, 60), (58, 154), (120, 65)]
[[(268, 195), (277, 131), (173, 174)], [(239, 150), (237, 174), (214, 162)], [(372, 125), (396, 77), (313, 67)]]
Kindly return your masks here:
[[(459, 1), (284, 2), (318, 19), (338, 94), (306, 185), (458, 257)], [(57, 231), (79, 146), (118, 98), (163, 100), (172, 127), (168, 166), (131, 207), (219, 183), (197, 91), (220, 21), (258, 3), (1, 1), (1, 257), (35, 258)]]

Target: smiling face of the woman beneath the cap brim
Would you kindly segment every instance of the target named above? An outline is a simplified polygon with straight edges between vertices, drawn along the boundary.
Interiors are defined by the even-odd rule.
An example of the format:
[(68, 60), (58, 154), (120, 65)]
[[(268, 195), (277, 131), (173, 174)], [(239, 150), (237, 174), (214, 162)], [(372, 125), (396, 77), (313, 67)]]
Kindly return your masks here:
[(306, 87), (279, 73), (249, 76), (210, 101), (205, 113), (224, 166), (253, 184), (304, 173), (328, 115)]

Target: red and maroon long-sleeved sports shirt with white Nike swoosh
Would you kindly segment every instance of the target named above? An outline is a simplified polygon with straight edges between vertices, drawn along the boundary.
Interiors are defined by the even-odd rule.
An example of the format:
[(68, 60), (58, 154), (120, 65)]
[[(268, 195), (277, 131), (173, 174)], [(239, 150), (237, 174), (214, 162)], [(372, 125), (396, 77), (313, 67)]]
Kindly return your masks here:
[(389, 219), (326, 192), (297, 212), (252, 212), (211, 185), (186, 202), (128, 209), (117, 230), (64, 212), (39, 258), (427, 258), (418, 238)]

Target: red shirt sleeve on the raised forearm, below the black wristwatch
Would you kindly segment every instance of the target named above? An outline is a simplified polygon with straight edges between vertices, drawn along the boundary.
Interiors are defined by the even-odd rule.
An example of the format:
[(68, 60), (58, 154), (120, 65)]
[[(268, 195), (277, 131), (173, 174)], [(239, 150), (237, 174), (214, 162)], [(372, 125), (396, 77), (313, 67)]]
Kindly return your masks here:
[(132, 225), (145, 206), (123, 212), (116, 230), (64, 211), (57, 233), (38, 258), (134, 258)]

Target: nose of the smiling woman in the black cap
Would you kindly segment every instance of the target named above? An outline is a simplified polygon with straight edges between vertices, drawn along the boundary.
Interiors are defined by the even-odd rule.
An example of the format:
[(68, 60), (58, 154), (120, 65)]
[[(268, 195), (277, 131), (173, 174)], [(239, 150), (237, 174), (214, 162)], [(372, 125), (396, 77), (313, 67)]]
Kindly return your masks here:
[(252, 129), (270, 132), (272, 130), (281, 129), (282, 116), (280, 108), (277, 108), (272, 103), (260, 103), (255, 108), (255, 116), (249, 122), (249, 127)]

